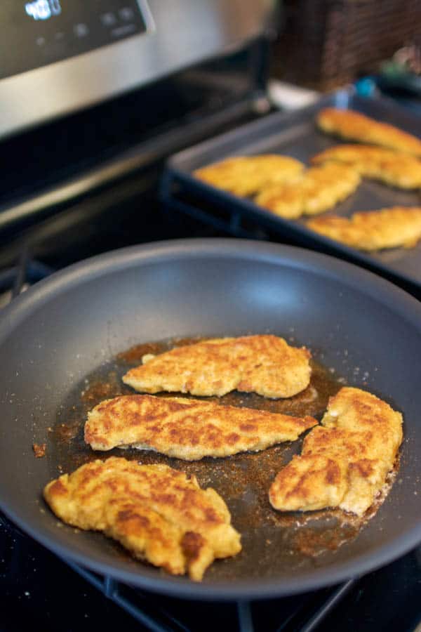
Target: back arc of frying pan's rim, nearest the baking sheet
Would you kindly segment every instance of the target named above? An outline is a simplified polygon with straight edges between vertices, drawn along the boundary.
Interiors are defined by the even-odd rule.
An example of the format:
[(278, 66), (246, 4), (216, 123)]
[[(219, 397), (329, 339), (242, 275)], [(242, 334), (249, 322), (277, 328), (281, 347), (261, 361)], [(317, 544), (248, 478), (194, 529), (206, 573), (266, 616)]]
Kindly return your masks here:
[[(253, 249), (250, 251), (250, 246)], [(312, 271), (313, 264), (317, 268), (322, 268), (326, 276), (330, 279), (347, 279), (351, 287), (356, 287), (363, 294), (373, 296), (375, 298), (404, 315), (407, 320), (413, 322), (419, 329), (421, 318), (421, 303), (417, 298), (411, 296), (407, 291), (401, 289), (393, 282), (380, 277), (376, 272), (361, 268), (356, 263), (342, 261), (335, 256), (310, 251), (298, 246), (289, 246), (287, 244), (277, 244), (274, 242), (257, 242), (253, 239), (237, 239), (230, 237), (208, 237), (208, 238), (186, 238), (186, 239), (168, 239), (165, 241), (151, 242), (148, 244), (139, 244), (128, 246), (103, 254), (89, 257), (73, 263), (72, 265), (62, 268), (46, 279), (29, 287), (20, 296), (13, 299), (9, 305), (6, 305), (0, 313), (0, 342), (4, 338), (7, 328), (7, 322), (10, 325), (15, 324), (22, 312), (29, 310), (32, 303), (39, 305), (43, 301), (48, 300), (56, 292), (70, 289), (74, 284), (79, 284), (85, 280), (93, 279), (101, 276), (104, 272), (109, 272), (109, 265), (112, 264), (112, 270), (118, 271), (124, 268), (130, 268), (135, 263), (157, 263), (160, 261), (169, 261), (173, 258), (212, 258), (225, 256), (229, 258), (258, 259), (267, 263), (286, 263), (289, 267)], [(370, 291), (372, 290), (372, 291)], [(412, 315), (407, 310), (417, 312)]]

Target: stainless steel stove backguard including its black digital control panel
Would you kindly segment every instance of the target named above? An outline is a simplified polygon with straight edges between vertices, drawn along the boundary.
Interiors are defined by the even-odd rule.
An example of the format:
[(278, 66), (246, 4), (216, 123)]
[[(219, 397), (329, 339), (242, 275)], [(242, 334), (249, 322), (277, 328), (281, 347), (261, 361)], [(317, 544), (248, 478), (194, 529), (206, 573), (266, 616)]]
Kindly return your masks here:
[(0, 138), (242, 46), (269, 0), (2, 0)]

